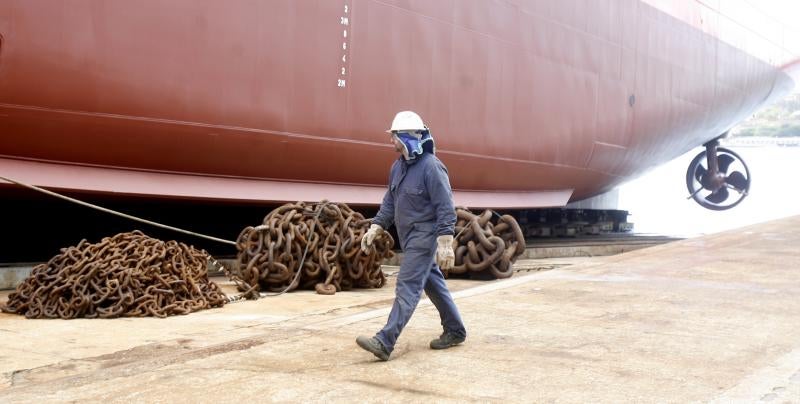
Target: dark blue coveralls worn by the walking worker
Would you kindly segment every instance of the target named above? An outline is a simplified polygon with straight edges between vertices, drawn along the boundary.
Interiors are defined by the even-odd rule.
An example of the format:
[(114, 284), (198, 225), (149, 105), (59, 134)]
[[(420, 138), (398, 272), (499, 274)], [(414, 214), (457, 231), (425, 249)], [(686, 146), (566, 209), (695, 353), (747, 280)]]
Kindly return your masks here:
[(384, 229), (394, 223), (404, 253), (389, 320), (375, 337), (389, 353), (394, 350), (423, 288), (439, 310), (444, 331), (466, 337), (461, 316), (435, 262), (436, 238), (452, 235), (456, 223), (444, 164), (430, 153), (409, 161), (402, 157), (395, 161), (389, 174), (389, 189), (372, 223)]

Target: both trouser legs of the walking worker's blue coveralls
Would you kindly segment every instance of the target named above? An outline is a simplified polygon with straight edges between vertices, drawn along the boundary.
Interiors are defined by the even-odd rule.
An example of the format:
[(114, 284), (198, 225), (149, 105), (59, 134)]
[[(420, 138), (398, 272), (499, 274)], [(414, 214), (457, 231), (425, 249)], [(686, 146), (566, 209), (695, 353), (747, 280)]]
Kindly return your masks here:
[(409, 249), (403, 256), (389, 320), (375, 335), (389, 352), (394, 350), (400, 332), (414, 314), (423, 289), (439, 310), (445, 330), (466, 336), (458, 309), (447, 290), (441, 271), (433, 260), (434, 254), (433, 249)]

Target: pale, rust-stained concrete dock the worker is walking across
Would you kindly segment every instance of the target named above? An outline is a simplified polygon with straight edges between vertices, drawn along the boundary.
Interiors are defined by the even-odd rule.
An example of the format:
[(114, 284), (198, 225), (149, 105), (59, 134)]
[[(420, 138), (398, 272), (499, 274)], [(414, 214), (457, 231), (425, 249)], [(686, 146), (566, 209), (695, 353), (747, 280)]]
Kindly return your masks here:
[(800, 402), (800, 217), (517, 269), (448, 281), (466, 343), (428, 349), (425, 300), (389, 362), (354, 340), (391, 283), (163, 320), (0, 314), (0, 402)]

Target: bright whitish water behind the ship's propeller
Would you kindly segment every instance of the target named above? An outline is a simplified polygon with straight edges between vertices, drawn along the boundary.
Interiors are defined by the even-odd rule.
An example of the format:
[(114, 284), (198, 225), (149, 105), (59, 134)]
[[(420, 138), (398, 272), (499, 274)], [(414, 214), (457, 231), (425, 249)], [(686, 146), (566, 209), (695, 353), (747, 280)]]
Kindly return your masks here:
[(620, 209), (637, 233), (695, 236), (800, 215), (800, 147), (730, 147), (750, 168), (750, 194), (736, 207), (712, 211), (686, 198), (686, 169), (701, 149), (620, 187)]

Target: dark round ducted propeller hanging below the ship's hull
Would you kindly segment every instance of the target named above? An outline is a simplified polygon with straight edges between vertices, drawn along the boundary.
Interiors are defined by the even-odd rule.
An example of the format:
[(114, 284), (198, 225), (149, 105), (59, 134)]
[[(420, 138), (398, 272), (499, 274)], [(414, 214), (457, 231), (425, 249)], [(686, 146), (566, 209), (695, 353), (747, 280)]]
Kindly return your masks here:
[(718, 147), (716, 141), (710, 142), (706, 150), (689, 163), (686, 187), (689, 197), (700, 206), (711, 210), (730, 209), (750, 191), (750, 170), (733, 150)]

